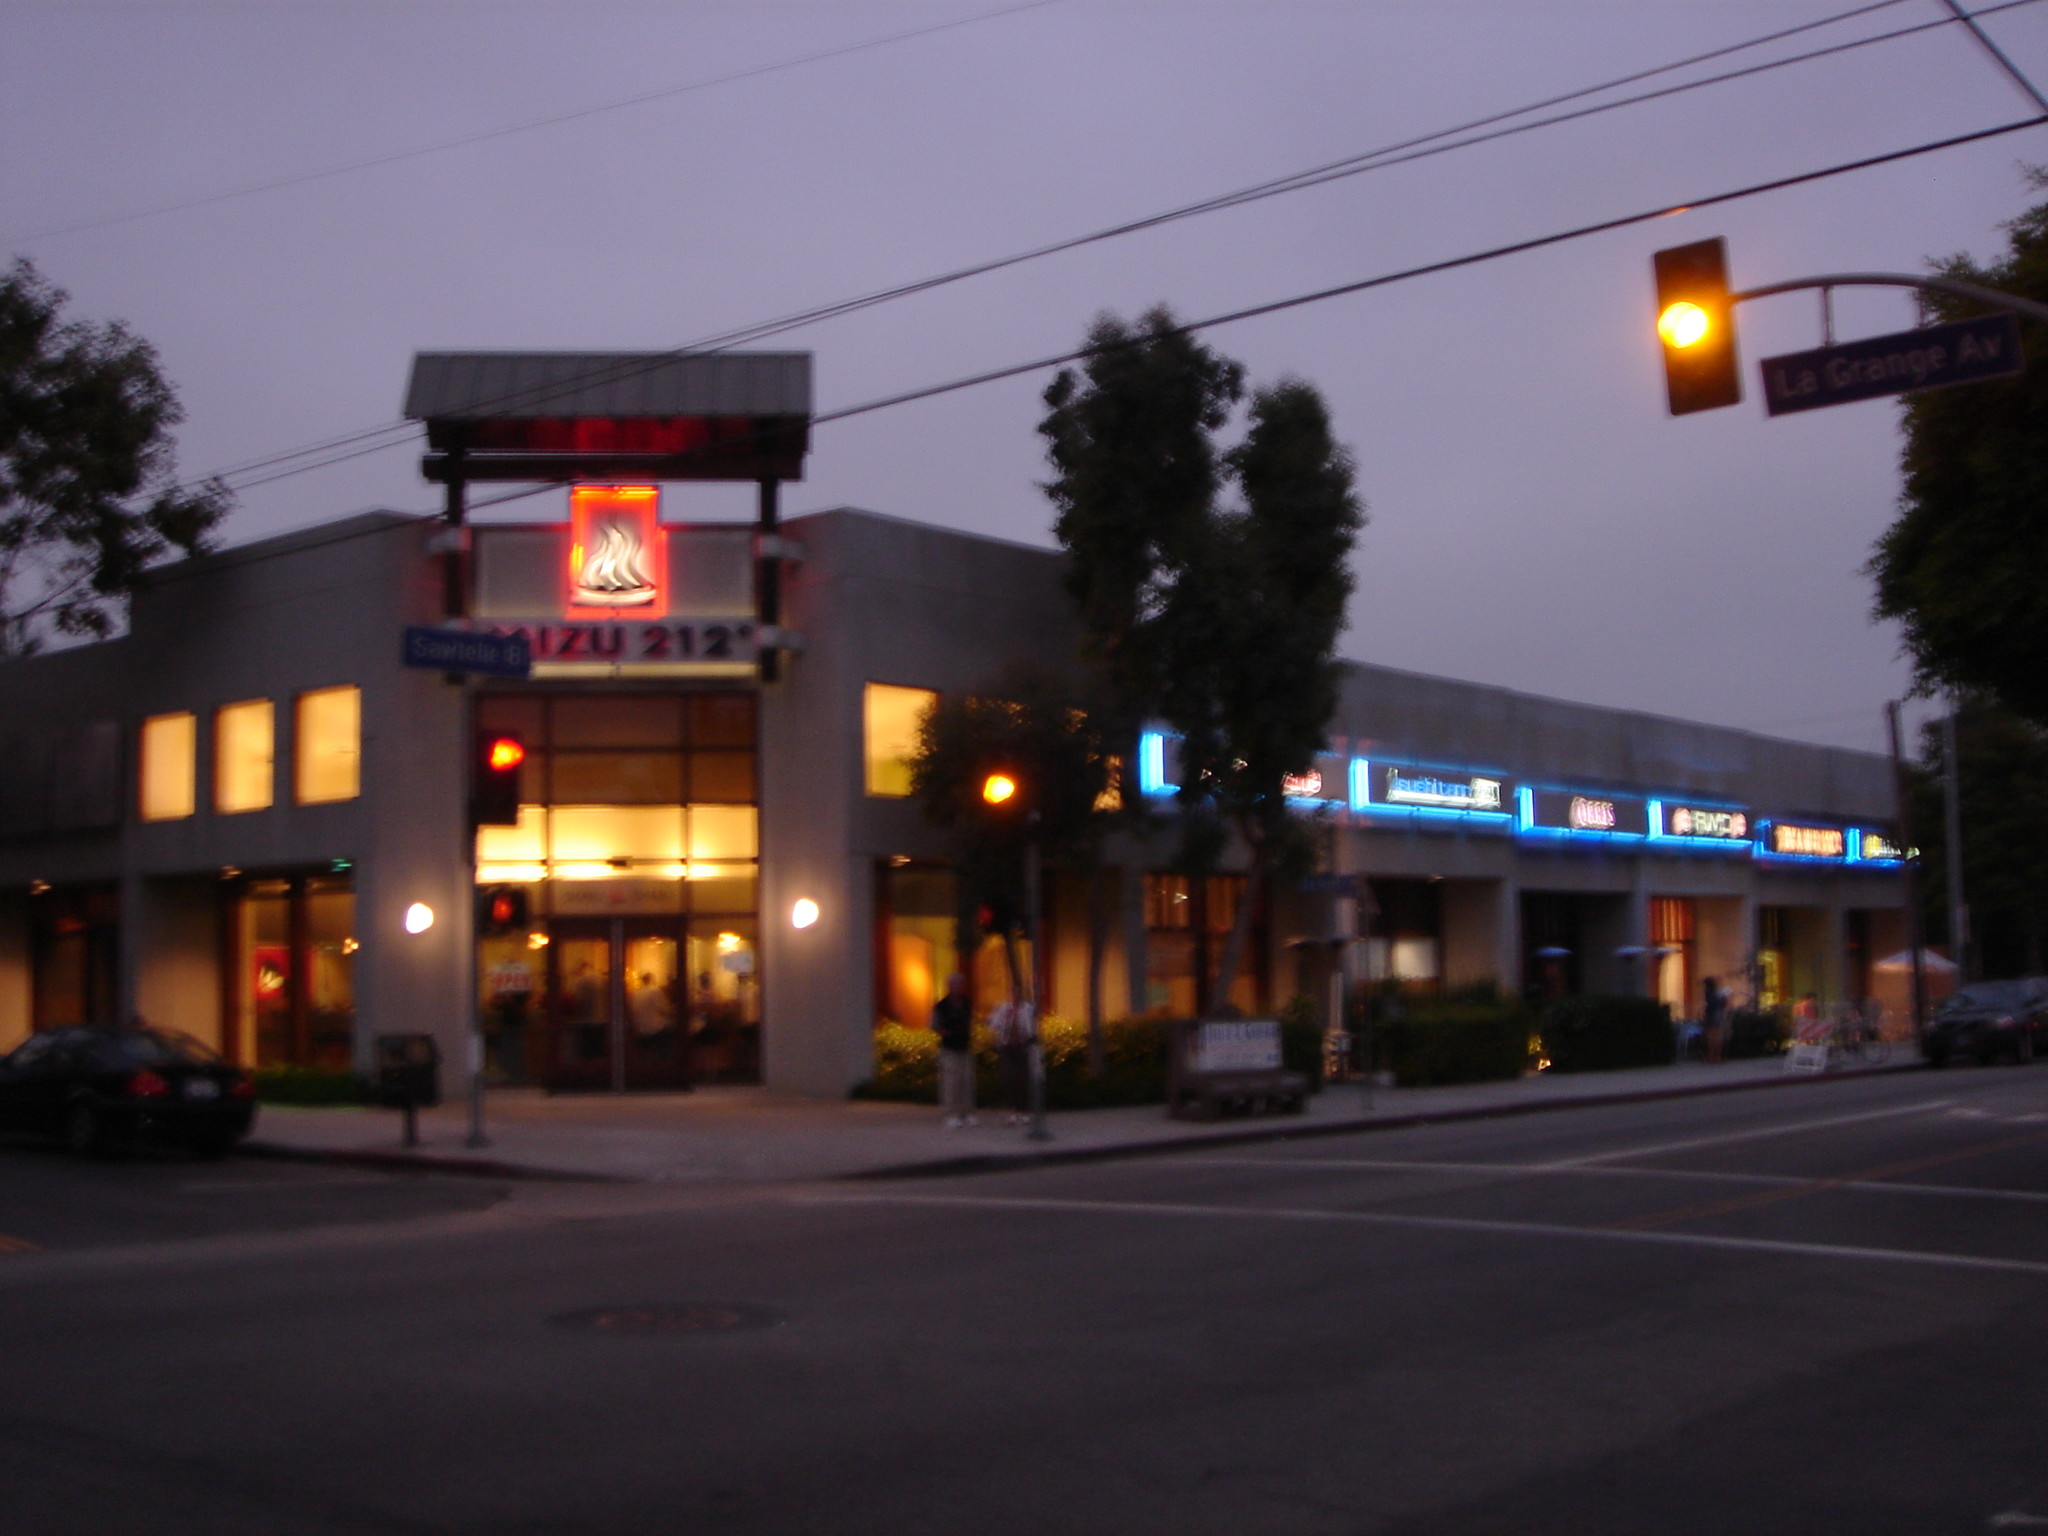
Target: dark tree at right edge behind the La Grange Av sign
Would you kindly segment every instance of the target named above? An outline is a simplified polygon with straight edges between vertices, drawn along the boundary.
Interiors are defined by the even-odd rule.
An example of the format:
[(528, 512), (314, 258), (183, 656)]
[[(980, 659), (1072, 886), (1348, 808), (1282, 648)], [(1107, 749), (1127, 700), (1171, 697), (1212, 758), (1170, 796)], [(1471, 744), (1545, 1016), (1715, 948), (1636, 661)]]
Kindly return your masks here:
[[(2048, 176), (2034, 174), (2036, 186)], [(2048, 301), (2048, 203), (2013, 219), (2007, 254), (1991, 266), (1970, 256), (1935, 262), (1966, 279)], [(1931, 319), (1978, 309), (1929, 293)], [(2048, 346), (2021, 319), (2034, 358), (2023, 375), (1905, 401), (1905, 492), (1898, 520), (1870, 561), (1876, 616), (1905, 627), (1921, 690), (1993, 694), (2048, 725)]]

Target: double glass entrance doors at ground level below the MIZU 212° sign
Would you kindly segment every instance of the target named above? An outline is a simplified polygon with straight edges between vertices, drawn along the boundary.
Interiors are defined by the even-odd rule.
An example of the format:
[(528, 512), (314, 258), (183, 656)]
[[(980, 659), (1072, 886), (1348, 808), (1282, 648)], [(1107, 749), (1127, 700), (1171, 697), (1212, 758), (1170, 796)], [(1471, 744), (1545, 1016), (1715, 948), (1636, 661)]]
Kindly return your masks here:
[(688, 1087), (680, 932), (659, 918), (549, 924), (551, 1090)]

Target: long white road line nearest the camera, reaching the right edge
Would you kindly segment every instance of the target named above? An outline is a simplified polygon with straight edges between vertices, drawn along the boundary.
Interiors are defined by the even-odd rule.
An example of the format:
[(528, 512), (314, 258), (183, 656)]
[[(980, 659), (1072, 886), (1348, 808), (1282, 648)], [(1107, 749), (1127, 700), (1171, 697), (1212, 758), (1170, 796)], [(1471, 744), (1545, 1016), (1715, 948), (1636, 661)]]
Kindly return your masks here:
[(1479, 1221), (1475, 1217), (1409, 1217), (1389, 1210), (1317, 1210), (1300, 1206), (1204, 1206), (1169, 1200), (1061, 1200), (1051, 1196), (975, 1194), (803, 1194), (795, 1204), (930, 1206), (940, 1210), (1059, 1210), (1092, 1217), (1202, 1217), (1208, 1221), (1292, 1221), (1331, 1227), (1415, 1227), (1444, 1233), (1491, 1233), (1505, 1237), (1581, 1237), (1595, 1243), (1657, 1243), (1663, 1247), (1718, 1247), (1737, 1253), (1786, 1253), (1815, 1260), (1862, 1260), (1866, 1264), (1919, 1264), (1935, 1270), (1991, 1270), (1997, 1274), (2048, 1276), (2040, 1260), (1995, 1260), (1976, 1253), (1925, 1253), (1907, 1247), (1851, 1247), (1839, 1243), (1788, 1243), (1772, 1237), (1714, 1237), (1645, 1227), (1561, 1227), (1544, 1221)]

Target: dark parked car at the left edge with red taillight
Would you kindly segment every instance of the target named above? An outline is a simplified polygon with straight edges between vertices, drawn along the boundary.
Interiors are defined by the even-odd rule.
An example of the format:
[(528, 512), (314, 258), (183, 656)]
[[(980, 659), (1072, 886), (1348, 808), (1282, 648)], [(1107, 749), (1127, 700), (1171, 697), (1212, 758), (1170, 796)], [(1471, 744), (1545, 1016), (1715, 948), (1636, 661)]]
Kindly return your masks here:
[(0, 1059), (0, 1130), (57, 1137), (78, 1155), (168, 1141), (219, 1157), (256, 1120), (256, 1085), (188, 1034), (76, 1024)]

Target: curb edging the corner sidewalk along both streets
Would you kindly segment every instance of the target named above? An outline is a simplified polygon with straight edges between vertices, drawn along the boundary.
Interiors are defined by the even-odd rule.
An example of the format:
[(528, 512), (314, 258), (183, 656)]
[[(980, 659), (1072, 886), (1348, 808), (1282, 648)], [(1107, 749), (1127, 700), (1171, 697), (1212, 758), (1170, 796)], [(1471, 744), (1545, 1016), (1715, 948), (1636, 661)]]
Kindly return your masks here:
[[(965, 1178), (971, 1174), (999, 1174), (1020, 1167), (1059, 1167), (1069, 1163), (1110, 1163), (1126, 1157), (1161, 1157), (1169, 1153), (1196, 1151), (1202, 1147), (1253, 1147), (1276, 1141), (1319, 1141), (1325, 1137), (1356, 1137), (1376, 1130), (1413, 1130), (1425, 1124), (1458, 1124), (1462, 1120), (1505, 1120), (1518, 1114), (1556, 1114), (1563, 1110), (1597, 1110), (1618, 1104), (1649, 1104), (1655, 1100), (1706, 1098), (1712, 1094), (1749, 1094), (1767, 1087), (1806, 1087), (1815, 1083), (1843, 1083), (1860, 1077), (1886, 1077), (1901, 1071), (1923, 1071), (1921, 1061), (1901, 1061), (1888, 1067), (1864, 1067), (1851, 1073), (1786, 1073), (1782, 1077), (1751, 1077), (1737, 1083), (1686, 1083), (1681, 1087), (1636, 1087), (1618, 1094), (1585, 1094), (1579, 1098), (1524, 1100), (1505, 1104), (1475, 1104), (1462, 1110), (1415, 1110), (1413, 1114), (1389, 1114), (1374, 1120), (1335, 1120), (1325, 1124), (1264, 1124), (1223, 1135), (1163, 1137), (1159, 1141), (1124, 1141), (1106, 1147), (1071, 1147), (1059, 1151), (1016, 1151), (1016, 1153), (973, 1153), (965, 1157), (938, 1157), (922, 1163), (895, 1163), (889, 1167), (864, 1167), (854, 1174), (831, 1174), (827, 1182), (883, 1182), (883, 1180), (928, 1180)], [(530, 1163), (500, 1163), (489, 1157), (451, 1157), (444, 1153), (414, 1151), (373, 1151), (346, 1147), (285, 1147), (268, 1141), (246, 1141), (238, 1147), (246, 1157), (264, 1157), (285, 1163), (342, 1163), (354, 1167), (381, 1167), (393, 1174), (455, 1174), (463, 1178), (496, 1180), (541, 1180), (561, 1184), (653, 1184), (655, 1180), (629, 1174), (586, 1174)]]

